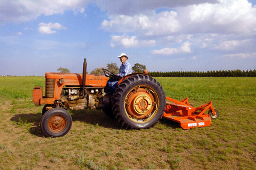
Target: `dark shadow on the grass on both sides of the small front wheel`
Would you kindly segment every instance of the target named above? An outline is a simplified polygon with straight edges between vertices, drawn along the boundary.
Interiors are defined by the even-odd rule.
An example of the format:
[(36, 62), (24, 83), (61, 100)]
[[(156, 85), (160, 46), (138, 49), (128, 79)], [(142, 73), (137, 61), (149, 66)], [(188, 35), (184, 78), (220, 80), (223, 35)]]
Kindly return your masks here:
[[(90, 125), (98, 125), (104, 128), (117, 130), (122, 129), (116, 120), (106, 116), (101, 110), (70, 110), (70, 113), (72, 116), (73, 124), (74, 122), (79, 121)], [(32, 127), (29, 129), (29, 133), (38, 137), (43, 137), (45, 135), (42, 133), (40, 127), (41, 116), (41, 113), (15, 114), (10, 120), (16, 124), (16, 126), (31, 124)]]

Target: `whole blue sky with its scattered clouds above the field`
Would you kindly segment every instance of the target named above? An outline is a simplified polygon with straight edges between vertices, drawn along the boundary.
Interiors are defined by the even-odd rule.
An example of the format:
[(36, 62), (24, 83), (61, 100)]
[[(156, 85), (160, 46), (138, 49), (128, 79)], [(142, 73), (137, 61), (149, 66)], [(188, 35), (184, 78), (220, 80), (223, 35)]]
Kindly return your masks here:
[(0, 0), (0, 75), (256, 69), (256, 0)]

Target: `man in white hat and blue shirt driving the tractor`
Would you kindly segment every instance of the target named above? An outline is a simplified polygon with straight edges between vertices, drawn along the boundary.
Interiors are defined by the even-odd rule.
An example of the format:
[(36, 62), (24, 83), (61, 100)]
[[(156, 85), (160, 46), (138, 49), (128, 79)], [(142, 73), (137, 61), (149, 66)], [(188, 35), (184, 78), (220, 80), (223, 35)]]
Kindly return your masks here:
[(127, 61), (129, 59), (126, 54), (122, 53), (118, 58), (121, 61), (121, 66), (119, 68), (119, 73), (116, 75), (117, 76), (117, 81), (110, 82), (108, 81), (108, 86), (109, 86), (109, 91), (113, 94), (115, 89), (117, 88), (117, 83), (120, 79), (123, 77), (132, 74), (132, 66), (131, 64)]

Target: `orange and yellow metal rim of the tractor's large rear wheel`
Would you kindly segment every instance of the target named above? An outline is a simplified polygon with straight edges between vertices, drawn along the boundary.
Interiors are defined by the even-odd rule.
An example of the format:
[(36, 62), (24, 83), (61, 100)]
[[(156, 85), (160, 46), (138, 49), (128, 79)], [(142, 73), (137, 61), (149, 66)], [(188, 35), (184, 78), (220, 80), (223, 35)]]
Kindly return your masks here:
[(150, 121), (157, 113), (159, 98), (150, 86), (136, 86), (125, 97), (124, 110), (126, 116), (136, 123)]

